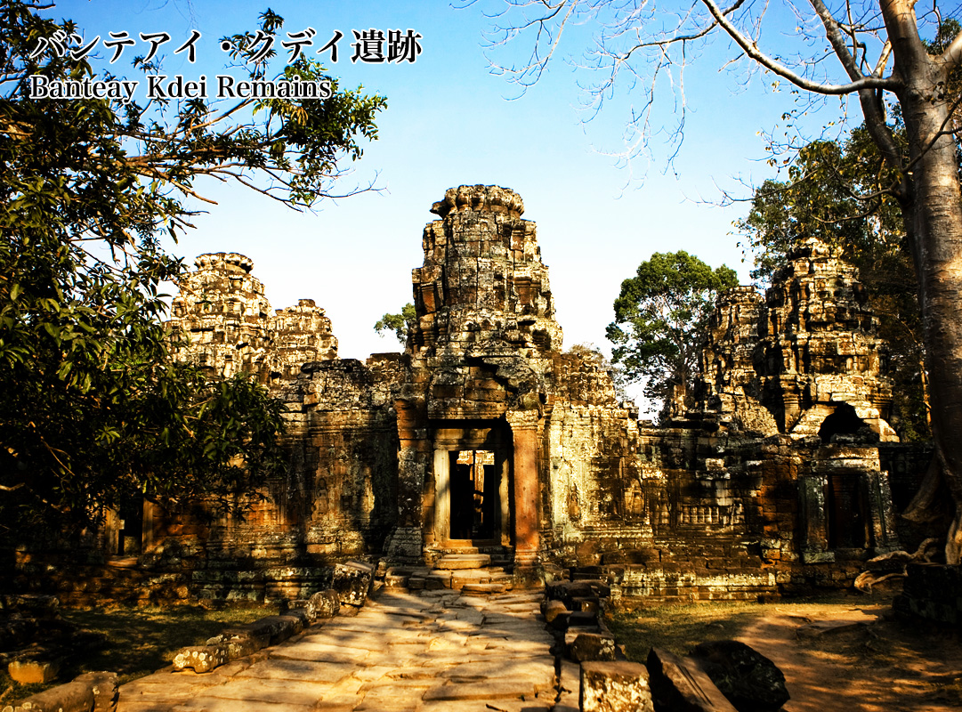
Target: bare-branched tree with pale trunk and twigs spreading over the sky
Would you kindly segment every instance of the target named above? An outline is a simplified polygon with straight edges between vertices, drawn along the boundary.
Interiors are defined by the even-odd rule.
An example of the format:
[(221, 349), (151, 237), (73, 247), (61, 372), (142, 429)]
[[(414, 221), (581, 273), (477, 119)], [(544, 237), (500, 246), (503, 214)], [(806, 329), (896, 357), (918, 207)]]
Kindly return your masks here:
[[(655, 80), (683, 71), (689, 58), (713, 38), (727, 40), (730, 62), (742, 58), (773, 74), (794, 90), (812, 96), (857, 99), (868, 135), (895, 175), (885, 188), (899, 204), (906, 241), (913, 255), (923, 316), (926, 366), (932, 405), (932, 435), (938, 467), (926, 477), (924, 497), (934, 502), (939, 480), (954, 502), (946, 558), (962, 557), (962, 191), (959, 187), (955, 111), (960, 97), (952, 81), (962, 66), (962, 33), (948, 37), (938, 0), (917, 15), (914, 0), (862, 0), (830, 9), (808, 0), (807, 10), (790, 4), (794, 32), (772, 32), (769, 5), (733, 0), (694, 0), (676, 7), (595, 0), (508, 0), (526, 12), (505, 27), (501, 39), (534, 37), (529, 61), (502, 67), (519, 84), (530, 85), (544, 72), (569, 22), (601, 18), (591, 55), (603, 80), (594, 96), (610, 96), (620, 73), (644, 88), (642, 111), (632, 126), (648, 135)], [(954, 6), (953, 6), (954, 7)], [(951, 14), (951, 12), (949, 13)], [(498, 20), (503, 21), (503, 20)], [(941, 52), (929, 53), (929, 33)], [(794, 42), (797, 42), (794, 43)], [(765, 47), (772, 47), (771, 50)], [(837, 64), (827, 60), (834, 58)], [(891, 64), (891, 71), (886, 74)], [(671, 86), (684, 86), (679, 76)], [(684, 106), (683, 94), (679, 96)], [(892, 121), (898, 108), (905, 140)], [(680, 136), (684, 115), (675, 136)]]

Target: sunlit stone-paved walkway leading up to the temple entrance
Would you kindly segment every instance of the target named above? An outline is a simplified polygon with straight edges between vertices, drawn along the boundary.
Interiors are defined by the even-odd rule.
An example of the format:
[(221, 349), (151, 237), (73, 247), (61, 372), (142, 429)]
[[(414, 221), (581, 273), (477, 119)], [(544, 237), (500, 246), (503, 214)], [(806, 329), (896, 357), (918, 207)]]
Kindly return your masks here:
[(541, 598), (382, 591), (211, 673), (123, 685), (118, 712), (543, 712), (556, 690)]

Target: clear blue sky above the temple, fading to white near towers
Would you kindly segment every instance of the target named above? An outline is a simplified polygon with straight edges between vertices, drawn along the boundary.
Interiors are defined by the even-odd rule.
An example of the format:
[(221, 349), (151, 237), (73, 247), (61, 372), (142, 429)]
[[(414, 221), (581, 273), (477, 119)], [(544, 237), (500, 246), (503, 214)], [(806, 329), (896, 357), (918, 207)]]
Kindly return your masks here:
[[(220, 0), (69, 0), (50, 14), (72, 17), (88, 38), (109, 32), (165, 31), (165, 72), (197, 77), (222, 73), (222, 36), (253, 31), (262, 2)], [(557, 316), (565, 343), (595, 343), (607, 351), (605, 326), (622, 279), (652, 252), (685, 249), (713, 266), (726, 263), (747, 281), (732, 221), (747, 205), (722, 209), (719, 186), (740, 191), (737, 178), (757, 185), (773, 174), (765, 165), (765, 143), (791, 108), (787, 92), (772, 93), (764, 81), (748, 89), (739, 77), (718, 71), (723, 46), (691, 70), (686, 79), (690, 114), (679, 157), (670, 169), (655, 135), (653, 162), (636, 162), (634, 174), (601, 150), (617, 150), (627, 107), (635, 95), (623, 92), (602, 114), (583, 125), (578, 112), (578, 73), (558, 63), (538, 86), (517, 93), (489, 70), (482, 43), (491, 20), (482, 8), (455, 9), (446, 2), (274, 2), (286, 32), (316, 29), (316, 47), (335, 30), (344, 38), (331, 73), (343, 87), (363, 85), (388, 97), (380, 115), (380, 138), (367, 146), (346, 181), (367, 183), (376, 175), (380, 193), (367, 193), (320, 206), (316, 214), (291, 212), (240, 186), (204, 185), (218, 205), (198, 216), (196, 230), (174, 250), (197, 254), (235, 251), (254, 261), (254, 275), (266, 285), (275, 308), (314, 298), (327, 310), (341, 343), (342, 357), (364, 359), (395, 350), (379, 338), (374, 321), (399, 311), (412, 298), (411, 269), (423, 259), (420, 238), (433, 219), (431, 204), (462, 184), (496, 184), (518, 191), (525, 217), (538, 223), (544, 262), (550, 267)], [(489, 3), (489, 9), (496, 3)], [(414, 29), (423, 53), (415, 64), (352, 64), (352, 30)], [(191, 29), (203, 37), (200, 56), (189, 64), (169, 56)], [(564, 54), (578, 55), (591, 28), (573, 28)], [(127, 50), (143, 52), (142, 45)], [(522, 41), (499, 55), (520, 56)], [(101, 50), (103, 52), (103, 50)], [(714, 54), (712, 54), (714, 53)], [(715, 56), (717, 55), (717, 56)], [(277, 68), (283, 65), (282, 52)], [(561, 59), (564, 59), (563, 57)], [(126, 58), (114, 64), (115, 72)], [(235, 70), (238, 71), (238, 70)], [(134, 78), (134, 72), (128, 71)], [(671, 99), (660, 114), (671, 121)], [(347, 184), (345, 184), (347, 185)], [(704, 202), (699, 202), (704, 201)]]

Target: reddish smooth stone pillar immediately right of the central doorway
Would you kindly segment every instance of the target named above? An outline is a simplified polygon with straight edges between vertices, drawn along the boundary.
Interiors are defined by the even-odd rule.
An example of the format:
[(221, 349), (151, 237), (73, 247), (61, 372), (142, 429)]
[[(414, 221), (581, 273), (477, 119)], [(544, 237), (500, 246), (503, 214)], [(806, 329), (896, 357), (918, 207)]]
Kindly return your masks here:
[(538, 483), (538, 411), (509, 411), (515, 445), (512, 502), (515, 509), (515, 563), (526, 568), (538, 561), (541, 546), (541, 491)]

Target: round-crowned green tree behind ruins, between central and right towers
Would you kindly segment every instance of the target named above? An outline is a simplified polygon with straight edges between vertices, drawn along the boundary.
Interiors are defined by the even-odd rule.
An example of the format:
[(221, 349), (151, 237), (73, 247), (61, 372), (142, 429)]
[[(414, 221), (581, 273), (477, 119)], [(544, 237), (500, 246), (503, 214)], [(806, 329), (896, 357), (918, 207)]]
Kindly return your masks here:
[(648, 398), (685, 403), (718, 292), (738, 285), (735, 271), (712, 269), (684, 250), (656, 252), (621, 282), (608, 339), (628, 381)]

